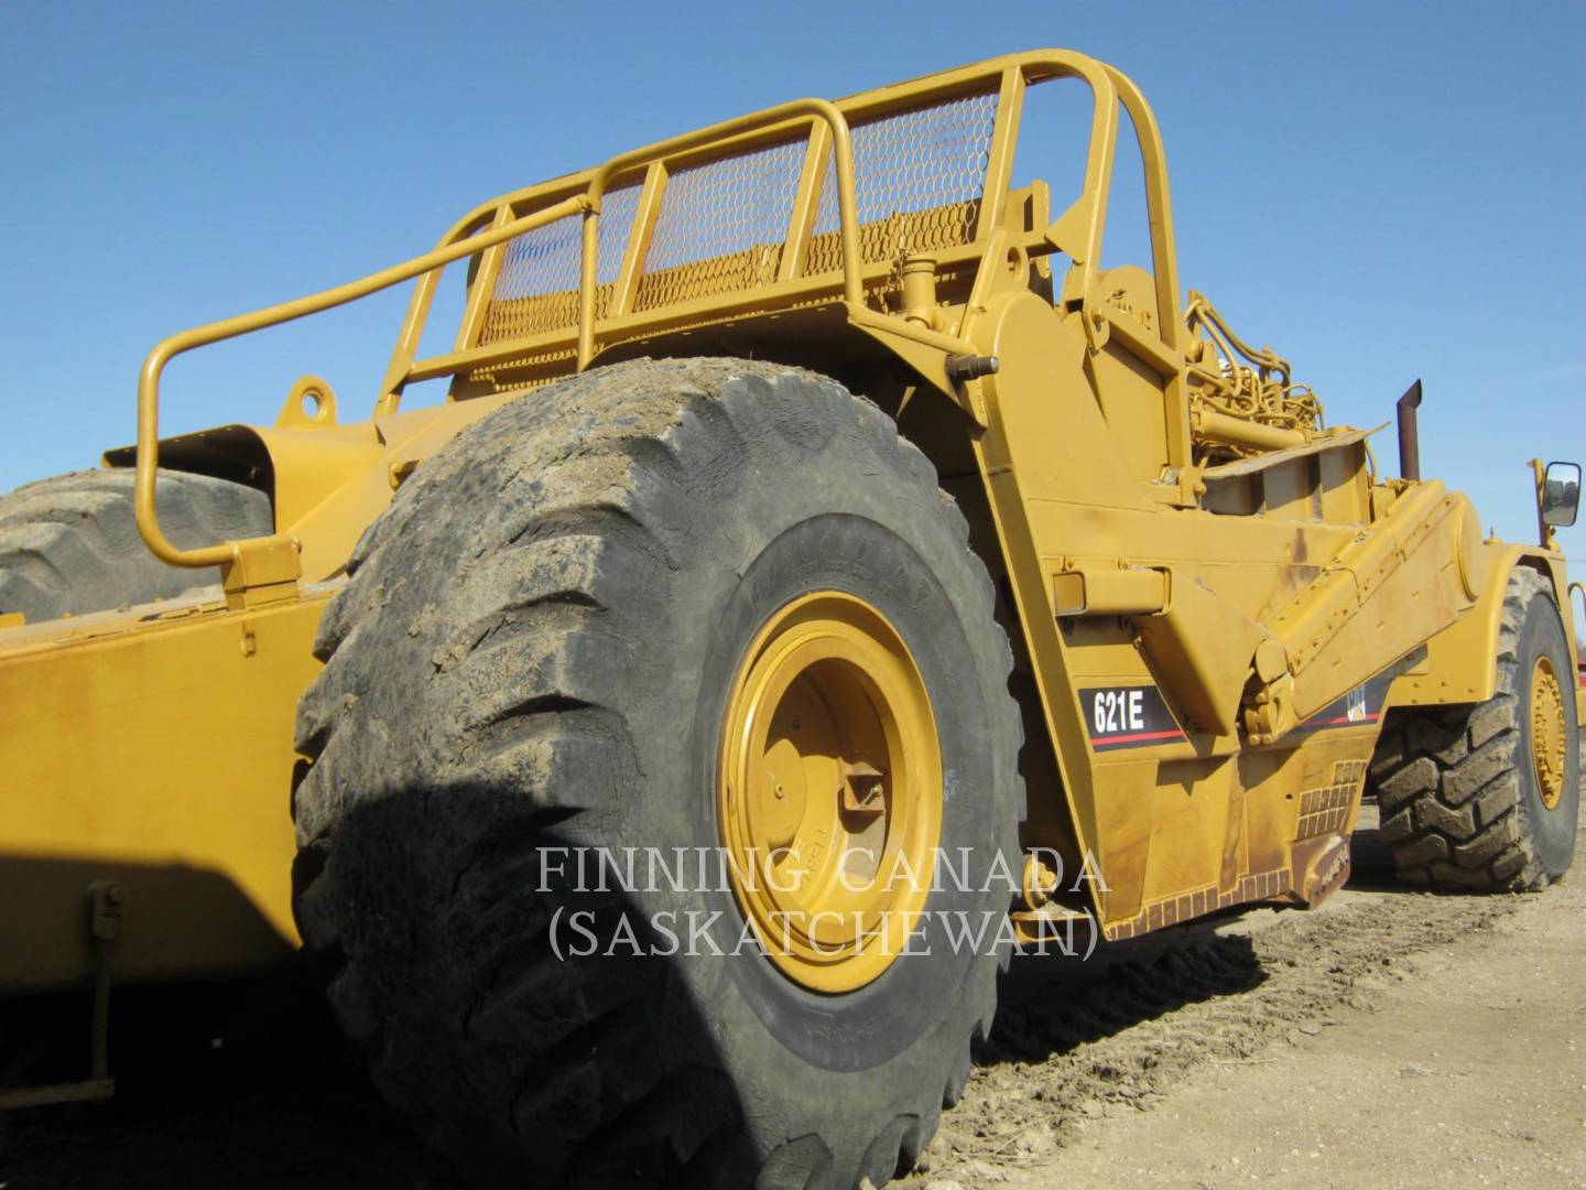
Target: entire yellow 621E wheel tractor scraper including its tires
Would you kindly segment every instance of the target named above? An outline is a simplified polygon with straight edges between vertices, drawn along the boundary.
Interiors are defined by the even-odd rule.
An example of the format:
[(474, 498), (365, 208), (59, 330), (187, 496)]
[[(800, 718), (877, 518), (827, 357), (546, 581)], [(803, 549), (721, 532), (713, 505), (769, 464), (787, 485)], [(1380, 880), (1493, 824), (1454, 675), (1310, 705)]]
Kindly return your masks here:
[[(1058, 92), (1072, 198), (1020, 144)], [(1104, 270), (1124, 121), (1150, 260)], [(412, 279), (366, 420), (306, 378), (160, 436), (178, 354)], [(1565, 871), (1578, 468), (1486, 538), (1418, 400), (1383, 478), (1185, 303), (1151, 111), (1077, 52), (492, 198), (160, 343), (136, 446), (0, 500), (0, 988), (306, 947), (465, 1174), (879, 1185), (1015, 946), (1315, 904), (1369, 792), (1407, 881)]]

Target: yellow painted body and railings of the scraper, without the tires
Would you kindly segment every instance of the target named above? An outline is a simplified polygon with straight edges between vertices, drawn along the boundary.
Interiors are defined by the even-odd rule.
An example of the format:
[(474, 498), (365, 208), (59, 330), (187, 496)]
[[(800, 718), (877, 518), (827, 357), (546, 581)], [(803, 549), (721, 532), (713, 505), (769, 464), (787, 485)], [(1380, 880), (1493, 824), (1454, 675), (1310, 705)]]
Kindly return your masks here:
[[(1050, 179), (1013, 186), (1025, 105), (1058, 79), (1090, 94), (1083, 179), (1063, 209)], [(1102, 268), (1124, 121), (1151, 249)], [(1023, 146), (1031, 157), (1039, 146)], [(441, 270), (462, 260), (454, 347), (419, 359)], [(273, 427), (160, 440), (174, 355), (408, 279), (370, 420), (339, 424), (335, 393), (305, 378)], [(406, 263), (154, 349), (138, 446), (106, 462), (138, 468), (149, 547), (220, 565), (225, 601), (178, 620), (108, 617), (87, 636), (0, 633), (0, 879), (8, 903), (44, 898), (38, 916), (5, 914), (0, 982), (76, 969), (73, 889), (103, 868), (147, 873), (132, 895), (159, 904), (128, 911), (133, 973), (276, 957), (292, 941), (290, 720), (327, 598), (312, 584), (343, 571), (425, 459), (503, 401), (639, 354), (734, 352), (863, 387), (960, 495), (1012, 593), (1031, 722), (1052, 744), (1025, 841), (1094, 855), (1109, 936), (1326, 895), (1381, 700), (1491, 695), (1515, 565), (1545, 570), (1567, 601), (1556, 551), (1481, 541), (1462, 495), (1377, 476), (1367, 432), (1324, 427), (1285, 360), (1199, 295), (1185, 303), (1161, 136), (1117, 70), (1037, 51), (801, 100), (500, 195)], [(442, 406), (400, 408), (438, 378)], [(157, 463), (268, 487), (276, 532), (176, 549)], [(1166, 728), (1098, 722), (1144, 714), (1147, 692)], [(197, 873), (197, 892), (171, 873)]]

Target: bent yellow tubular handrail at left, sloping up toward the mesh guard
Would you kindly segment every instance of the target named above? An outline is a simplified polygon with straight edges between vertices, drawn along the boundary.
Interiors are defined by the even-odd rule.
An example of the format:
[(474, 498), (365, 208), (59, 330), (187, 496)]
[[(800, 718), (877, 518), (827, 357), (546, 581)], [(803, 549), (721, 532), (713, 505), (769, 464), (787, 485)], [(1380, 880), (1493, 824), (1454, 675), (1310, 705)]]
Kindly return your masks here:
[(454, 260), (460, 260), (465, 255), (473, 255), (474, 252), (490, 248), (492, 244), (522, 235), (523, 232), (531, 232), (542, 224), (555, 222), (557, 219), (565, 219), (569, 214), (577, 214), (587, 209), (588, 198), (582, 194), (574, 195), (557, 203), (555, 206), (533, 211), (520, 219), (514, 219), (509, 224), (469, 236), (468, 240), (462, 240), (455, 244), (442, 244), (441, 248), (425, 252), (423, 255), (417, 255), (412, 260), (392, 265), (390, 268), (382, 268), (379, 273), (370, 273), (360, 281), (349, 281), (347, 284), (336, 286), (335, 289), (311, 294), (293, 301), (282, 301), (281, 305), (266, 306), (265, 309), (255, 309), (251, 314), (238, 314), (236, 317), (225, 319), (224, 322), (211, 322), (206, 327), (184, 330), (179, 335), (160, 340), (154, 351), (149, 352), (149, 357), (143, 362), (143, 371), (138, 374), (138, 463), (133, 482), (133, 512), (138, 522), (138, 533), (143, 536), (149, 552), (160, 559), (160, 562), (171, 566), (224, 566), (236, 562), (243, 546), (246, 544), (279, 544), (285, 541), (284, 535), (273, 533), (263, 538), (227, 541), (219, 546), (179, 549), (160, 530), (159, 514), (154, 506), (154, 486), (160, 466), (160, 373), (165, 371), (167, 363), (193, 347), (205, 347), (211, 343), (220, 343), (224, 340), (236, 338), (238, 335), (247, 335), (254, 330), (276, 327), (282, 322), (306, 317), (308, 314), (319, 314), (325, 309), (344, 306), (349, 301), (357, 301), (370, 294), (377, 294), (379, 290), (390, 289), (403, 281), (411, 281), (420, 273), (430, 273), (442, 265), (452, 263)]

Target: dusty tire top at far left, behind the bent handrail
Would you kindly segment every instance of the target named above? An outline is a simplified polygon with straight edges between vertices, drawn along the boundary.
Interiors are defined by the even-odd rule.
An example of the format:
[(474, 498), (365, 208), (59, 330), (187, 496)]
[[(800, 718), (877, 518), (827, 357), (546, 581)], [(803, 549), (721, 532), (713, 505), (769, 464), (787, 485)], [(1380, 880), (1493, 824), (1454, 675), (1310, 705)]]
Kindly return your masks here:
[[(40, 479), (0, 497), (0, 614), (30, 624), (127, 608), (220, 581), (219, 570), (167, 566), (143, 538), (125, 468)], [(162, 470), (160, 527), (187, 549), (263, 536), (270, 497), (201, 474)]]

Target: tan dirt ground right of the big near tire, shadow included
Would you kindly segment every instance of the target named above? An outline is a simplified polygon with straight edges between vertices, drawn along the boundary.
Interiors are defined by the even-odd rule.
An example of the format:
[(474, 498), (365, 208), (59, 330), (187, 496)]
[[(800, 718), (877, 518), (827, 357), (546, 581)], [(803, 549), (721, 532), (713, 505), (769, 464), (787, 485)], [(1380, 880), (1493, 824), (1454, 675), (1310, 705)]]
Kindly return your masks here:
[(1375, 831), (1356, 843), (1321, 909), (1167, 931), (1077, 976), (1015, 960), (902, 1185), (1586, 1187), (1586, 868), (1537, 896), (1432, 896), (1391, 882)]

